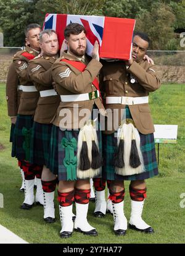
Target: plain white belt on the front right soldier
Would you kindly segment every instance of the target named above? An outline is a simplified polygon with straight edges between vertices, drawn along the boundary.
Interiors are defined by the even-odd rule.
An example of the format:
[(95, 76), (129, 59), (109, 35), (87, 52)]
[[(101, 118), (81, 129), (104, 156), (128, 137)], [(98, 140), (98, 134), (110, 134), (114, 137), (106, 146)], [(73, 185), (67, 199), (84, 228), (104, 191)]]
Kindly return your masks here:
[(149, 96), (144, 97), (106, 97), (106, 104), (135, 105), (149, 103)]

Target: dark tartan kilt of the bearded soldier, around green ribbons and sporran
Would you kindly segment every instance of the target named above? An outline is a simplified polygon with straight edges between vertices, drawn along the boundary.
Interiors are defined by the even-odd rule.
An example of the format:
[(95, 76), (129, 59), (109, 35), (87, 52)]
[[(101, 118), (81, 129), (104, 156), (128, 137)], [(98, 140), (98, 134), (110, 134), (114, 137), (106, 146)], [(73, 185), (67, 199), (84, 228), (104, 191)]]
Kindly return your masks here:
[[(57, 126), (52, 127), (48, 168), (52, 173), (58, 175), (59, 181), (67, 181), (67, 168), (64, 166), (65, 149), (61, 145), (62, 138), (65, 137), (68, 140), (75, 138), (78, 143), (79, 132), (80, 129), (60, 130)], [(97, 140), (99, 142), (99, 152), (102, 154), (102, 135), (100, 130), (97, 130)], [(74, 150), (74, 155), (77, 155), (77, 149)]]

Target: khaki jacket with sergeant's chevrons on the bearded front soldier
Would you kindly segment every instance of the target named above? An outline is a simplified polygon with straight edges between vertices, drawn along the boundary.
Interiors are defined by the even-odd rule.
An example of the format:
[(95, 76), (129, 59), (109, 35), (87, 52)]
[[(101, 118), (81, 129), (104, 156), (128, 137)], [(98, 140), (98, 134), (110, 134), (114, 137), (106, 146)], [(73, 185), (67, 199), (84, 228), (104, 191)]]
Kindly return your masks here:
[[(61, 61), (64, 58), (72, 61), (79, 61), (79, 59), (72, 54), (63, 52), (63, 56), (54, 63), (52, 67), (52, 76), (54, 82), (56, 83), (56, 88), (59, 95), (77, 95), (95, 91), (96, 88), (94, 85), (92, 85), (92, 81), (99, 74), (99, 70), (101, 70), (102, 64), (99, 61), (96, 61), (96, 59), (91, 59), (84, 71), (80, 72), (80, 70), (76, 69), (72, 65)], [(60, 127), (65, 127), (67, 129), (78, 129), (83, 127), (84, 123), (89, 119), (91, 114), (87, 116), (81, 113), (82, 116), (79, 116), (80, 111), (82, 109), (88, 109), (89, 113), (91, 113), (94, 103), (96, 104), (97, 108), (102, 109), (102, 114), (105, 113), (105, 109), (100, 97), (94, 100), (75, 102), (61, 101), (53, 124), (55, 126), (60, 125)], [(61, 116), (64, 109), (67, 111), (67, 113), (69, 113), (67, 114), (67, 118), (64, 117), (64, 115), (63, 117)]]

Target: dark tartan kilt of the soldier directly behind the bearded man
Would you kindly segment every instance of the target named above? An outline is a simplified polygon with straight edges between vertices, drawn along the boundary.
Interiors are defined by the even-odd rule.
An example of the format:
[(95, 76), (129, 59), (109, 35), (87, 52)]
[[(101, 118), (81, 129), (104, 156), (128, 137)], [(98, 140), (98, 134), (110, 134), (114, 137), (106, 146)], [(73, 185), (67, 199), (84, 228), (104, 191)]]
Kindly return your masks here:
[(52, 124), (33, 122), (31, 134), (30, 163), (46, 165), (49, 159), (49, 144)]

